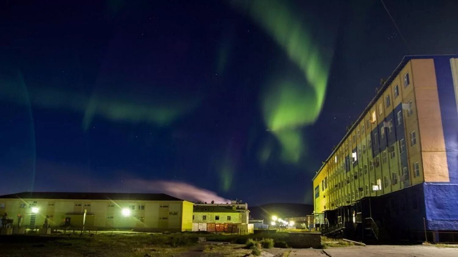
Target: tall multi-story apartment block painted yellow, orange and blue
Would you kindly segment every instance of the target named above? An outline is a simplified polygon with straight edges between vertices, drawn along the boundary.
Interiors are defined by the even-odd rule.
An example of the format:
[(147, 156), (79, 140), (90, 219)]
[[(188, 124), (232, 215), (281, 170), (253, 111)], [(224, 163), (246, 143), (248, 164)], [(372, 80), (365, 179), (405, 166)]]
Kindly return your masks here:
[(404, 57), (313, 178), (316, 220), (354, 238), (452, 241), (457, 99), (458, 55)]

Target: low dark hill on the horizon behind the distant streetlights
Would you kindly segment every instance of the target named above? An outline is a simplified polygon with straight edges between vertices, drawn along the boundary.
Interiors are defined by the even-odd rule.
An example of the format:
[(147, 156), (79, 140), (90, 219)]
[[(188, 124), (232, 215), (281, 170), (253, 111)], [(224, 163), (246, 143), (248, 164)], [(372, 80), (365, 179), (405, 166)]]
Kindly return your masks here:
[(250, 217), (254, 220), (270, 220), (272, 215), (278, 218), (304, 217), (313, 212), (312, 204), (304, 203), (266, 203), (260, 206), (248, 207)]

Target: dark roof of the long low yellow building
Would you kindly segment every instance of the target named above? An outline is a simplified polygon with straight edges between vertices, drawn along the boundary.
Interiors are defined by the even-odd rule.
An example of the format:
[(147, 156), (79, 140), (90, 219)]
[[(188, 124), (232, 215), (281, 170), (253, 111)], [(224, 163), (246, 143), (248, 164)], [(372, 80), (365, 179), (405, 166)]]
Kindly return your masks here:
[(21, 192), (1, 195), (0, 198), (71, 199), (71, 200), (136, 200), (183, 201), (164, 193), (76, 193), (76, 192)]

